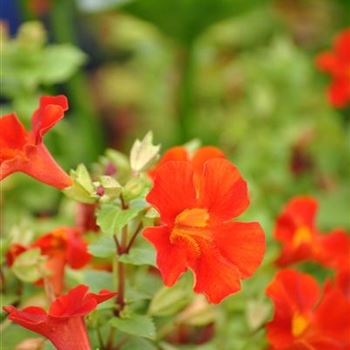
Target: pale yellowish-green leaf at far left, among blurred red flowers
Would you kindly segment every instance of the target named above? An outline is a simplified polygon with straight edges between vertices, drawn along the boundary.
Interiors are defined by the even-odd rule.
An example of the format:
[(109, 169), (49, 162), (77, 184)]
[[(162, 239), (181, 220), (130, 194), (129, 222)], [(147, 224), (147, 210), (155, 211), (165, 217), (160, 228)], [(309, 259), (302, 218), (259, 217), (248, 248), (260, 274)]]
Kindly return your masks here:
[(16, 258), (11, 269), (20, 280), (35, 282), (43, 277), (44, 262), (40, 248), (30, 249)]

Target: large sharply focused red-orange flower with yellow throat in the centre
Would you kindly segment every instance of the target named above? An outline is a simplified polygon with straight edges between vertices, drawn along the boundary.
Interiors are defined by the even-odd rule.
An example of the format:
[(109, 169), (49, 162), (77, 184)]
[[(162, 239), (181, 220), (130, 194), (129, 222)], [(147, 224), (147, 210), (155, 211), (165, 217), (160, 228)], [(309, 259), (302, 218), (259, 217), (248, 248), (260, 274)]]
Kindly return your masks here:
[(208, 160), (200, 175), (188, 161), (166, 162), (156, 171), (147, 201), (159, 211), (162, 225), (146, 228), (144, 236), (157, 250), (167, 286), (191, 269), (195, 292), (218, 303), (237, 292), (240, 280), (260, 265), (262, 228), (231, 221), (249, 199), (246, 182), (228, 160)]

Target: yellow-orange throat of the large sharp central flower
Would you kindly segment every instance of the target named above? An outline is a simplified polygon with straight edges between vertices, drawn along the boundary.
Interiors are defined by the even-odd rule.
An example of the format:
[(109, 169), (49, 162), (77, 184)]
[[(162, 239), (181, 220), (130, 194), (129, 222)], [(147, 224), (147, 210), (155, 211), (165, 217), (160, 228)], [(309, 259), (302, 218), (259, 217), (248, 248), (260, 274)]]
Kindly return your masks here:
[(210, 241), (207, 230), (209, 213), (206, 209), (185, 209), (175, 219), (175, 226), (170, 234), (171, 243), (182, 243), (195, 256), (200, 254), (200, 242)]

